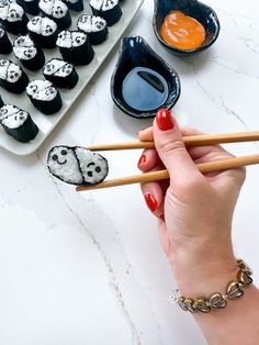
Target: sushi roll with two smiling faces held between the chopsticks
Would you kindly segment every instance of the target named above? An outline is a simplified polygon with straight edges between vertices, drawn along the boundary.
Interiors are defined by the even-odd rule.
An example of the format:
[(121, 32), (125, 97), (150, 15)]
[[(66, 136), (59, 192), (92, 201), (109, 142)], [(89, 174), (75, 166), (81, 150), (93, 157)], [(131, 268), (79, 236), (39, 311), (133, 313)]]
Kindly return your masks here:
[(108, 160), (85, 147), (54, 146), (47, 156), (52, 175), (71, 185), (97, 185), (108, 175)]

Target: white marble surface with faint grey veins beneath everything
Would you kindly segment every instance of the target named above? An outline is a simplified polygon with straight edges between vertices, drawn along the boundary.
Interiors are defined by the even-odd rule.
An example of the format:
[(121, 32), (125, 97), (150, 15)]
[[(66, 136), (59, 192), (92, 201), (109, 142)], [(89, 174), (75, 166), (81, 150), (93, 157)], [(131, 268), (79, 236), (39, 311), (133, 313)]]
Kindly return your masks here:
[[(126, 0), (130, 1), (130, 0)], [(188, 59), (171, 56), (151, 29), (153, 1), (126, 34), (140, 34), (179, 73), (181, 123), (210, 132), (259, 127), (259, 22), (257, 0), (210, 0), (221, 20), (216, 44)], [(132, 141), (151, 123), (124, 115), (110, 97), (117, 47), (68, 116), (38, 153), (0, 151), (1, 345), (201, 345), (191, 316), (169, 304), (174, 289), (160, 249), (157, 223), (138, 186), (76, 193), (48, 175), (54, 144)], [(233, 144), (236, 155), (258, 153)], [(110, 153), (110, 177), (137, 172), (139, 152)], [(234, 219), (237, 256), (259, 281), (259, 166), (247, 180)]]

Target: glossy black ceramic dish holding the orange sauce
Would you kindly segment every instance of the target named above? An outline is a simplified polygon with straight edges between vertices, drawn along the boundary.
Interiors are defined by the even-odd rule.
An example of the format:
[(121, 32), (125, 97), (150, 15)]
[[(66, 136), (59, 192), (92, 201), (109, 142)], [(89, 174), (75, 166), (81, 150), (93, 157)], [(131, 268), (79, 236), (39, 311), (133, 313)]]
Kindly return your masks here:
[[(195, 49), (180, 49), (166, 43), (160, 36), (160, 27), (165, 16), (171, 11), (181, 11), (198, 20), (205, 29), (206, 37), (203, 44)], [(188, 56), (209, 48), (217, 38), (221, 30), (215, 11), (198, 0), (155, 0), (153, 27), (158, 41), (173, 55)]]

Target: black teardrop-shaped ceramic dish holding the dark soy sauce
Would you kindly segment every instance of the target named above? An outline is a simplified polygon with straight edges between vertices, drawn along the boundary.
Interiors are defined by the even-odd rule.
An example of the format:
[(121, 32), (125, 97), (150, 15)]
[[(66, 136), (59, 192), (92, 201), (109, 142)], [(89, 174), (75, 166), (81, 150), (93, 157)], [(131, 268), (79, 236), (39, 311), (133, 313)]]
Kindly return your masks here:
[[(162, 104), (155, 107), (154, 109), (137, 109), (131, 107), (131, 102), (125, 101), (124, 86), (132, 71), (143, 69), (144, 78), (139, 78), (139, 84), (145, 84), (147, 80), (151, 86), (155, 85), (155, 92), (167, 90), (167, 96)], [(146, 74), (146, 70), (150, 70), (151, 74)], [(145, 75), (146, 74), (146, 75)], [(160, 76), (160, 79), (156, 76)], [(166, 84), (166, 86), (165, 86)], [(136, 89), (139, 88), (137, 82)], [(119, 53), (119, 59), (116, 62), (114, 73), (111, 78), (111, 94), (114, 103), (126, 114), (137, 118), (146, 119), (154, 118), (156, 112), (160, 108), (171, 109), (180, 97), (180, 78), (176, 70), (169, 66), (159, 55), (157, 55), (150, 46), (140, 36), (124, 37), (121, 42), (121, 49)], [(137, 93), (138, 92), (138, 93)], [(146, 96), (142, 94), (142, 89), (135, 90), (135, 101), (142, 97), (146, 97), (151, 101), (151, 92), (146, 92)]]

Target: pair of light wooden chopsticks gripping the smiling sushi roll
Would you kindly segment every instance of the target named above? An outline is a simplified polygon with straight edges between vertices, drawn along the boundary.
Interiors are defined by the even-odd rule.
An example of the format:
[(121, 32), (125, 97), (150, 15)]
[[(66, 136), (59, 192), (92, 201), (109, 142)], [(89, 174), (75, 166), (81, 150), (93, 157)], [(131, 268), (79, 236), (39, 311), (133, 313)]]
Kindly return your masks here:
[[(211, 134), (211, 135), (191, 135), (184, 136), (183, 143), (185, 146), (205, 146), (205, 145), (217, 145), (226, 143), (240, 143), (240, 142), (255, 142), (259, 140), (258, 132), (238, 132), (238, 133), (225, 133), (225, 134)], [(115, 149), (135, 149), (135, 148), (154, 148), (154, 142), (131, 142), (131, 143), (119, 143), (119, 144), (103, 144), (103, 145), (91, 145), (88, 149), (91, 151), (115, 151)], [(205, 174), (212, 171), (219, 171), (226, 169), (239, 168), (259, 163), (258, 155), (249, 155), (241, 157), (233, 157), (221, 160), (214, 160), (209, 163), (198, 164), (198, 169)], [(94, 186), (78, 186), (77, 191), (93, 190), (109, 187), (116, 187), (132, 183), (144, 183), (151, 181), (159, 181), (169, 178), (167, 170), (151, 171), (140, 175), (127, 176), (108, 180)]]

